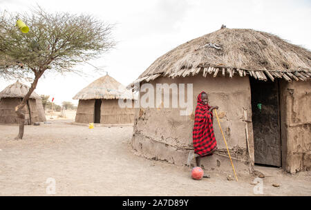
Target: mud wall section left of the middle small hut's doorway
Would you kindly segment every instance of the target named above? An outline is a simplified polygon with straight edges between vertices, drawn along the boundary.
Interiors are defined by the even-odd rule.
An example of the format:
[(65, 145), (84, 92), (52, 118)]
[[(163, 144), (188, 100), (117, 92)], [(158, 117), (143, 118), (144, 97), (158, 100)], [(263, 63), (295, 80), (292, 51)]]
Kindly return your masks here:
[(75, 122), (91, 123), (94, 122), (94, 104), (95, 99), (79, 100)]

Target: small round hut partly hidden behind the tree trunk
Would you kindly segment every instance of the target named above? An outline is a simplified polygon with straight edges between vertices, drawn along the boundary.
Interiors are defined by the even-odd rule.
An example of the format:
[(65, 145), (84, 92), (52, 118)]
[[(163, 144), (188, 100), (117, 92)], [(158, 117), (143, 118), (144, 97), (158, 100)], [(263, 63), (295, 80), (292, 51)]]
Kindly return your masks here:
[[(21, 100), (28, 93), (29, 87), (19, 81), (4, 88), (0, 92), (0, 124), (17, 124), (18, 118), (15, 107), (21, 104)], [(24, 107), (25, 124), (46, 121), (41, 97), (32, 92)]]

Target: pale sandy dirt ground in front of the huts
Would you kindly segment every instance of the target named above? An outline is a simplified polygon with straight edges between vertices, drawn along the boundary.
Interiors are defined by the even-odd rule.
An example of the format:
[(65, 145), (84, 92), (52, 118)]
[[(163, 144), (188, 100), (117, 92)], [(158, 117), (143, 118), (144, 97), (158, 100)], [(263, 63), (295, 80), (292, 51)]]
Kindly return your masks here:
[(48, 178), (55, 179), (55, 195), (311, 195), (310, 172), (290, 175), (256, 166), (265, 178), (263, 194), (255, 194), (255, 175), (238, 174), (236, 182), (227, 180), (228, 173), (205, 169), (211, 178), (198, 181), (188, 166), (135, 155), (132, 126), (50, 122), (26, 126), (21, 141), (13, 140), (18, 126), (0, 125), (0, 195), (48, 195)]

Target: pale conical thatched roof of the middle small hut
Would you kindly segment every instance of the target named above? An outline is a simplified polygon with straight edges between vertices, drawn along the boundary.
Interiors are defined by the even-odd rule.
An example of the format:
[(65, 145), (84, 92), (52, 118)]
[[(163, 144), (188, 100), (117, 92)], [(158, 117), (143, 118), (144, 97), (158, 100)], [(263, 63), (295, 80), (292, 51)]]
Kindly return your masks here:
[(83, 88), (73, 99), (134, 99), (134, 95), (120, 82), (106, 75)]

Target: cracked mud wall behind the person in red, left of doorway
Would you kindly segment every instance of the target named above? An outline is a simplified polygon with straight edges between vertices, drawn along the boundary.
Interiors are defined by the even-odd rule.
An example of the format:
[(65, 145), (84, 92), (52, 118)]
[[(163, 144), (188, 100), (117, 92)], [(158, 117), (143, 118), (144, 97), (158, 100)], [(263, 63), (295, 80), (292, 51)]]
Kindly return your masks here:
[[(209, 105), (219, 106), (220, 124), (232, 158), (234, 158), (236, 170), (249, 170), (250, 160), (254, 162), (254, 140), (248, 77), (233, 77), (232, 79), (223, 76), (215, 78), (201, 76), (178, 77), (176, 79), (160, 77), (151, 82), (154, 87), (156, 87), (157, 83), (186, 84), (186, 87), (188, 83), (193, 84), (191, 99), (193, 110), (190, 115), (182, 116), (180, 115), (181, 108), (164, 108), (163, 106), (158, 108), (137, 108), (131, 144), (138, 154), (146, 158), (165, 160), (178, 165), (188, 164), (189, 159), (191, 163), (194, 163), (194, 159), (191, 158), (191, 153), (194, 153), (192, 144), (194, 113), (197, 96), (204, 90), (209, 97)], [(140, 94), (140, 99), (142, 99), (143, 94)], [(173, 95), (176, 95), (176, 93), (171, 91), (169, 97), (171, 98)], [(247, 153), (246, 128), (252, 158), (249, 158), (249, 153)], [(214, 117), (214, 131), (218, 151), (214, 155), (202, 158), (202, 166), (205, 169), (216, 167), (232, 171), (230, 161), (226, 157), (225, 142), (220, 133), (216, 117)]]

